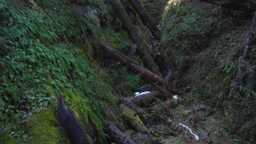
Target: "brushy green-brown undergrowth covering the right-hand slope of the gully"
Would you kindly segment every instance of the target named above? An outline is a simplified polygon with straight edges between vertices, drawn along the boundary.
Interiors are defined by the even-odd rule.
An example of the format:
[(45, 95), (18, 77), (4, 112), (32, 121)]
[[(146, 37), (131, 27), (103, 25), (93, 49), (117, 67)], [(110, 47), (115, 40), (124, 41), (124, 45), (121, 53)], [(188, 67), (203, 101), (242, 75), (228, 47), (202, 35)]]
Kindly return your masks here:
[(247, 39), (247, 29), (229, 29), (241, 27), (239, 22), (235, 26), (230, 20), (218, 7), (196, 2), (170, 3), (162, 19), (162, 43), (170, 67), (177, 67), (182, 57), (187, 59), (179, 87), (191, 87), (191, 92), (183, 95), (192, 101), (190, 105), (211, 106), (222, 113), (223, 128), (230, 136), (237, 142), (250, 143), (256, 113), (253, 86), (246, 83), (255, 58), (247, 56), (239, 86), (228, 99), (238, 57), (242, 56)]

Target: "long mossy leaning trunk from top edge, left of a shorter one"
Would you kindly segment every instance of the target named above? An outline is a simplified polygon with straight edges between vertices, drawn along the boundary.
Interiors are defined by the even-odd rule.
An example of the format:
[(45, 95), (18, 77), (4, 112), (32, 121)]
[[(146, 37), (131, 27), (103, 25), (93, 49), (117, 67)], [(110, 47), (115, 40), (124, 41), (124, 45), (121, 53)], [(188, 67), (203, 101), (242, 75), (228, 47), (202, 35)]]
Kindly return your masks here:
[(126, 11), (122, 7), (120, 1), (108, 0), (108, 2), (112, 4), (115, 12), (118, 14), (118, 17), (122, 22), (123, 27), (126, 29), (127, 33), (130, 35), (133, 43), (136, 43), (138, 47), (139, 57), (141, 57), (144, 66), (149, 70), (153, 71), (154, 73), (159, 73), (153, 61), (153, 58), (150, 57), (149, 55), (147, 45), (143, 43), (141, 36), (136, 31), (135, 27), (133, 27), (129, 16), (127, 15)]

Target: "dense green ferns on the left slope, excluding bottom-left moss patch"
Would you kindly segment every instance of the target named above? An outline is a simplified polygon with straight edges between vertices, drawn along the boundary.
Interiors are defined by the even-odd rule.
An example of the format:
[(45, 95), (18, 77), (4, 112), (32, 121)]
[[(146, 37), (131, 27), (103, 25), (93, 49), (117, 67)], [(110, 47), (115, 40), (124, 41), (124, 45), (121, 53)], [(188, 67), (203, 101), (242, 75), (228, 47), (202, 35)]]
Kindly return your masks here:
[(86, 35), (96, 32), (97, 23), (72, 17), (69, 7), (59, 1), (38, 4), (44, 9), (0, 2), (0, 133), (13, 130), (21, 133), (16, 137), (25, 135), (22, 125), (26, 117), (45, 109), (49, 100), (62, 94), (80, 121), (88, 123), (90, 117), (103, 139), (100, 104), (117, 98), (96, 73), (98, 65), (89, 63), (71, 45), (88, 43)]

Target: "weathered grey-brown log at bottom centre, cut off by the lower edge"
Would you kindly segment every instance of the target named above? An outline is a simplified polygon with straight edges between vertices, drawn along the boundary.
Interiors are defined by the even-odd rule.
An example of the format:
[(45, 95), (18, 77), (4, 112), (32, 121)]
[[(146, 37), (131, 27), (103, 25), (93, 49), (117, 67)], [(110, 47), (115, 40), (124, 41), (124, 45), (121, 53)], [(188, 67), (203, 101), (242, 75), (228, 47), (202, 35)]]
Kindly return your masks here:
[(108, 131), (109, 136), (117, 144), (135, 144), (135, 142), (133, 142), (130, 137), (126, 136), (122, 131), (120, 131), (114, 123), (108, 123), (106, 130)]

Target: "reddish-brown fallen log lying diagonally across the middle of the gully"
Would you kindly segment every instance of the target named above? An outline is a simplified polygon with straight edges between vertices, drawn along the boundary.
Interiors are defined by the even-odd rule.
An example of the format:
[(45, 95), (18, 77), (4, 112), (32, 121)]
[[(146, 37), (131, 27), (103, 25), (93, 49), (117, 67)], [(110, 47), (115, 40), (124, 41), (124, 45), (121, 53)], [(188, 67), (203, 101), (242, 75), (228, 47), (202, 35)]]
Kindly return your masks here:
[(154, 73), (152, 73), (152, 71), (142, 67), (141, 65), (138, 65), (132, 62), (132, 60), (129, 57), (125, 56), (123, 53), (120, 53), (114, 50), (112, 47), (102, 42), (100, 43), (100, 46), (102, 47), (102, 50), (104, 50), (107, 53), (107, 55), (117, 59), (121, 64), (125, 65), (127, 68), (131, 69), (132, 71), (141, 73), (144, 76), (144, 78), (146, 78), (147, 80), (159, 82), (160, 85), (165, 84), (164, 79), (162, 79), (158, 75), (155, 75)]

